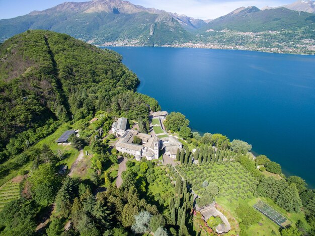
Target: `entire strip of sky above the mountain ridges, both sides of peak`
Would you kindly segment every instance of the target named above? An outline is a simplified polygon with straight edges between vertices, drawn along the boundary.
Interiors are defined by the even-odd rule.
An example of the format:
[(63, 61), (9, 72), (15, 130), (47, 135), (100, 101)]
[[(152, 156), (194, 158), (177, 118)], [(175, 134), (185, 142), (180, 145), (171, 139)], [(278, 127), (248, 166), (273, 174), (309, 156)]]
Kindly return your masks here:
[[(23, 16), (31, 11), (42, 11), (63, 2), (86, 2), (88, 0), (0, 0), (0, 19)], [(215, 19), (248, 6), (263, 8), (291, 4), (295, 0), (129, 0), (145, 8), (156, 8), (167, 12), (184, 14), (199, 19)]]

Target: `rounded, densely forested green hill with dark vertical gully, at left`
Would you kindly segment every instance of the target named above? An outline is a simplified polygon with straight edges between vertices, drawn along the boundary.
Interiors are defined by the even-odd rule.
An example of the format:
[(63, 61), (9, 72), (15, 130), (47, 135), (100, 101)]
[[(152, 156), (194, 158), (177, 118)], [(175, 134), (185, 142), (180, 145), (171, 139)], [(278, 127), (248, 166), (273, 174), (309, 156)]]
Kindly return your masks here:
[[(10, 140), (8, 155), (47, 135), (55, 120), (75, 121), (120, 106), (128, 111), (131, 105), (121, 101), (132, 103), (133, 92), (119, 103), (117, 96), (139, 84), (119, 54), (50, 31), (14, 36), (0, 45), (0, 58), (0, 161), (10, 138), (25, 130)], [(147, 109), (142, 100), (139, 110)]]

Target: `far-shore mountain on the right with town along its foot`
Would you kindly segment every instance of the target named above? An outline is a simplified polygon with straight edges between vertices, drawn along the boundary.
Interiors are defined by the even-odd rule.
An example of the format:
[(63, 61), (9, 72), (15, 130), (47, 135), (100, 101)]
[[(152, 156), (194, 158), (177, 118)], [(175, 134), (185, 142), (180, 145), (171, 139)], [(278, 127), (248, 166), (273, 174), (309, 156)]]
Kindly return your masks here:
[(196, 43), (210, 48), (313, 54), (314, 38), (314, 14), (243, 7), (200, 28)]

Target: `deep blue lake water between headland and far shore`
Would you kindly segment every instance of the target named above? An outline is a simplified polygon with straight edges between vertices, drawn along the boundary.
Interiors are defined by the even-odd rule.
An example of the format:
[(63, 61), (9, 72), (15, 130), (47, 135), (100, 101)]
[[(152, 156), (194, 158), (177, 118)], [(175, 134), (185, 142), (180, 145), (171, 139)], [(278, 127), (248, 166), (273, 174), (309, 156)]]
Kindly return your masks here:
[(193, 129), (242, 139), (315, 186), (315, 56), (193, 48), (111, 47), (138, 92)]

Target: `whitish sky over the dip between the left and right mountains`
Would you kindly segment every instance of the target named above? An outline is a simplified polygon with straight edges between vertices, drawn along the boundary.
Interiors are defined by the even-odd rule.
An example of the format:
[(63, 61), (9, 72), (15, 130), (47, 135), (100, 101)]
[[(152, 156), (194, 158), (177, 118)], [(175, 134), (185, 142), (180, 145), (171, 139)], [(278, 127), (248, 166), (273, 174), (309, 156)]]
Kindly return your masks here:
[(257, 0), (130, 0), (131, 3), (146, 8), (156, 8), (167, 12), (184, 14), (199, 19), (215, 19), (231, 11), (248, 6), (263, 8), (265, 6), (278, 7), (291, 1), (257, 1)]

